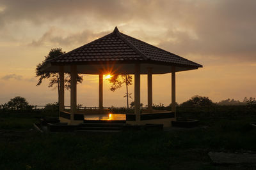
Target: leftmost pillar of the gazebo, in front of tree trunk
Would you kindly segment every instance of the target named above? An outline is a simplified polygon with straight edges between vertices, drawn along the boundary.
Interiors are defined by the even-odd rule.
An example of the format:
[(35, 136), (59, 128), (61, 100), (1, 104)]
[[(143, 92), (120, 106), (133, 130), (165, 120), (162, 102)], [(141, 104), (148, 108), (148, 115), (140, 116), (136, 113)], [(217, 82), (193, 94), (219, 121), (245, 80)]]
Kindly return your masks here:
[(64, 67), (59, 67), (60, 91), (59, 91), (59, 110), (64, 111)]

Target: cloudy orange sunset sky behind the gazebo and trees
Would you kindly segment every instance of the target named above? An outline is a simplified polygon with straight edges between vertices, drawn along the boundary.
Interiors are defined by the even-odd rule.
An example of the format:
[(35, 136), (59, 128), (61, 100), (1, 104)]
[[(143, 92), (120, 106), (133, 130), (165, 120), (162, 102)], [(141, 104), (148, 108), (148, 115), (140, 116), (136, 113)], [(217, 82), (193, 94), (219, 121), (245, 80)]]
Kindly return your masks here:
[[(113, 31), (140, 39), (204, 67), (177, 73), (177, 102), (207, 96), (218, 102), (256, 97), (256, 1), (0, 0), (0, 104), (25, 97), (29, 104), (58, 100), (48, 81), (36, 87), (35, 67), (51, 48), (65, 52)], [(98, 106), (98, 76), (83, 74), (77, 103)], [(171, 74), (153, 76), (153, 103), (171, 102)], [(104, 106), (125, 106), (125, 88)], [(129, 87), (134, 94), (134, 86)], [(65, 105), (70, 92), (65, 91)], [(147, 104), (147, 76), (141, 76)]]

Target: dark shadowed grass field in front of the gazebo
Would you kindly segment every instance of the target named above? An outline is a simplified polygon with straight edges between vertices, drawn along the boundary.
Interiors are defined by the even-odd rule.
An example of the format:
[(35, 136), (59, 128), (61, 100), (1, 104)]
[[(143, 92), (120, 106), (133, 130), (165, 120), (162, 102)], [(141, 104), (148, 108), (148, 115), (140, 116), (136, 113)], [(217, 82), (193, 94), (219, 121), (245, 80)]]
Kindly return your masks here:
[(32, 129), (44, 114), (0, 114), (0, 169), (255, 169), (216, 166), (210, 151), (256, 152), (255, 118), (204, 120), (204, 128), (118, 133)]

